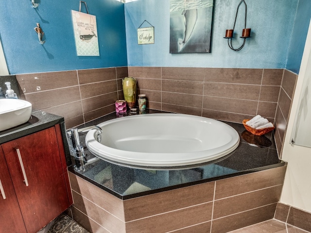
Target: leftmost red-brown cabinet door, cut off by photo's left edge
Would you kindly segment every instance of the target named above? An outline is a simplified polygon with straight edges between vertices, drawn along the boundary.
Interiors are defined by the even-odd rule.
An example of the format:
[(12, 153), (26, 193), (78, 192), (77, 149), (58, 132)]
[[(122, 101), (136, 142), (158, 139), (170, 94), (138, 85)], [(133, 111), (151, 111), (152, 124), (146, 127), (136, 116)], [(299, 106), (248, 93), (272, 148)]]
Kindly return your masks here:
[(8, 167), (0, 146), (0, 232), (26, 233)]

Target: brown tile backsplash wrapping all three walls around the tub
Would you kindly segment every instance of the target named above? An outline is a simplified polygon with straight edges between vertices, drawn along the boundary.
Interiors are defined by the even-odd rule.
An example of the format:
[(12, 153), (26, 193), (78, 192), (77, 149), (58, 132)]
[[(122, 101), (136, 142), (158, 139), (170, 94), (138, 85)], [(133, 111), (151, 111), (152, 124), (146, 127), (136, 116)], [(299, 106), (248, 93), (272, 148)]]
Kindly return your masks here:
[(122, 79), (137, 80), (147, 107), (241, 123), (257, 114), (276, 125), (280, 153), (297, 75), (286, 69), (109, 67), (16, 75), (21, 98), (64, 116), (66, 127), (114, 112)]

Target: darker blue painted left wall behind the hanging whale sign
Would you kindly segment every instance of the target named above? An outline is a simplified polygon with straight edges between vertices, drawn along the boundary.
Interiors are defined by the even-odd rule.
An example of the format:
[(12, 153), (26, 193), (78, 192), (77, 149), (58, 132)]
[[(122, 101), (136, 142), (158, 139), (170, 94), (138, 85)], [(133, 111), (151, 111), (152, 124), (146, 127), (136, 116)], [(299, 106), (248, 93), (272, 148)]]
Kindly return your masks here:
[[(127, 66), (124, 4), (116, 0), (86, 0), (96, 16), (100, 56), (77, 56), (71, 10), (78, 0), (0, 1), (0, 39), (10, 74)], [(81, 11), (86, 13), (85, 5)], [(40, 23), (46, 43), (34, 28)]]

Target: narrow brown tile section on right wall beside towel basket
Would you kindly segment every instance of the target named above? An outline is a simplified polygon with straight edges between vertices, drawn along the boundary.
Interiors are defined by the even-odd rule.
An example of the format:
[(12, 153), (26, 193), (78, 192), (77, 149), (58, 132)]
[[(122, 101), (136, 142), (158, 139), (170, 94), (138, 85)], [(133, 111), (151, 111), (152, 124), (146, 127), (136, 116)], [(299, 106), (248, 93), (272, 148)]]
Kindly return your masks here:
[(298, 75), (289, 71), (284, 70), (281, 89), (279, 92), (278, 103), (276, 108), (276, 149), (278, 154), (281, 156), (282, 145), (287, 129), (289, 113), (292, 106), (292, 100), (294, 97), (294, 89), (296, 86)]

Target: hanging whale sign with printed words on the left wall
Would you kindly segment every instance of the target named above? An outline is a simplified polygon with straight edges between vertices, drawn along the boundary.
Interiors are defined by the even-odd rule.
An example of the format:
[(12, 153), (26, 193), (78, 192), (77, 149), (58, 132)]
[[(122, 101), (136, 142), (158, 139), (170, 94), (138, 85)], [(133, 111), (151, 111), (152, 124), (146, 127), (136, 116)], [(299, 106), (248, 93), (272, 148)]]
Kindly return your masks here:
[(99, 56), (96, 16), (71, 10), (77, 56)]

